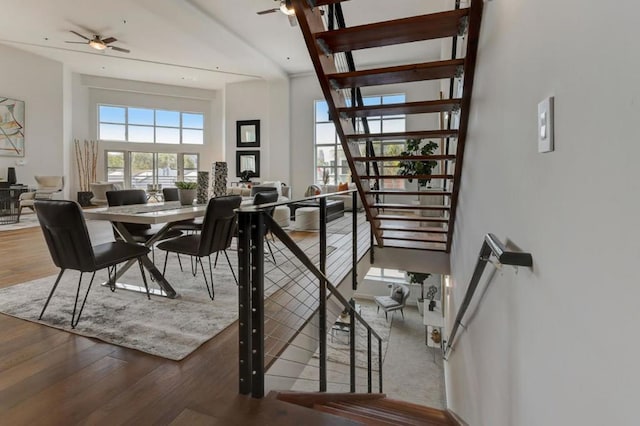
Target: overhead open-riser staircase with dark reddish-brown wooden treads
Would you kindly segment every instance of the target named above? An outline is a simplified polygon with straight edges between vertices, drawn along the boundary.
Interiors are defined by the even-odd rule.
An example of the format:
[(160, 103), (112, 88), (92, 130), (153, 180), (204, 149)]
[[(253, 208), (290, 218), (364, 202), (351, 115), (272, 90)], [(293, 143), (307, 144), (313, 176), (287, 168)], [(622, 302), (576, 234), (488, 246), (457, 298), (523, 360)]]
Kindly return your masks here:
[[(350, 0), (352, 4), (356, 2), (363, 8), (367, 7), (366, 0)], [(377, 245), (449, 252), (483, 0), (471, 0), (468, 8), (460, 8), (460, 2), (456, 1), (454, 10), (354, 27), (344, 25), (342, 1), (294, 0), (292, 3), (329, 107), (329, 116), (335, 124)], [(393, 4), (389, 3), (389, 7)], [(338, 28), (333, 29), (333, 19), (331, 24), (327, 24), (323, 16), (338, 16)], [(427, 40), (439, 42), (447, 38), (452, 38), (451, 59), (355, 69), (353, 51)], [(466, 42), (466, 48), (463, 57), (458, 58), (456, 56), (461, 49), (457, 45), (460, 41)], [(346, 55), (350, 69), (338, 69), (338, 55)], [(380, 62), (384, 59), (381, 58)], [(442, 79), (449, 87), (449, 96), (445, 99), (375, 106), (364, 106), (362, 102), (361, 89), (368, 86)], [(454, 96), (456, 82), (462, 87), (458, 96)], [(440, 128), (396, 133), (369, 132), (367, 117), (400, 114), (440, 114)], [(434, 140), (438, 143), (439, 153), (390, 156), (374, 149), (379, 141), (411, 139), (425, 143)], [(429, 175), (399, 176), (379, 172), (383, 166), (393, 168), (400, 161), (435, 161), (437, 166)], [(417, 185), (416, 188), (405, 185), (406, 190), (389, 189), (385, 182), (391, 179), (429, 179), (438, 188), (423, 191)]]

